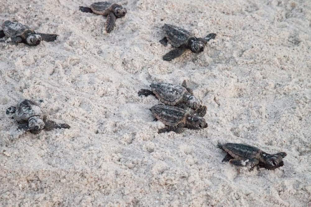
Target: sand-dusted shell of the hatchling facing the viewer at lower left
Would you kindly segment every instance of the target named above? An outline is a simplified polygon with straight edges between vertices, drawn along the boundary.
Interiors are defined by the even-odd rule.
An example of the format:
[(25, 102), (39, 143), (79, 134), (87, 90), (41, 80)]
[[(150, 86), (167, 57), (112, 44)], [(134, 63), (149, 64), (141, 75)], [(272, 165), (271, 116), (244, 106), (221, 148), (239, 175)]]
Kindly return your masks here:
[(16, 107), (15, 119), (18, 122), (28, 122), (32, 116), (46, 117), (42, 108), (35, 102), (25, 99)]

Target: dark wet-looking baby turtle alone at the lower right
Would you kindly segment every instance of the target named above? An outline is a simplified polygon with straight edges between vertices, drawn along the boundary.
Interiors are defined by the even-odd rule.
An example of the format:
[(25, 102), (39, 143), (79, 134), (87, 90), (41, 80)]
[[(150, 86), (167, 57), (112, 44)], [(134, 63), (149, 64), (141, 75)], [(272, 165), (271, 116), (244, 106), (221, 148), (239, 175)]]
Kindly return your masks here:
[(218, 143), (218, 147), (227, 152), (227, 155), (222, 162), (228, 162), (236, 166), (247, 166), (253, 168), (258, 165), (266, 169), (276, 169), (284, 165), (283, 158), (286, 156), (285, 152), (278, 152), (276, 154), (268, 154), (257, 147), (237, 144), (237, 143)]

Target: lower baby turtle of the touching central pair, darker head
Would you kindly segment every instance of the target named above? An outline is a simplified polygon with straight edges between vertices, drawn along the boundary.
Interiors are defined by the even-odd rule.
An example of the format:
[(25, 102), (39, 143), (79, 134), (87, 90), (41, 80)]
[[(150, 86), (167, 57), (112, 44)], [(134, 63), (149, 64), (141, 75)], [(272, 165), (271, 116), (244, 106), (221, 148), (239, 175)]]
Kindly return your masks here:
[(176, 106), (158, 104), (156, 106), (152, 106), (150, 110), (157, 120), (167, 126), (159, 129), (158, 133), (170, 131), (181, 133), (184, 127), (189, 129), (207, 128), (207, 123), (204, 118), (196, 116)]

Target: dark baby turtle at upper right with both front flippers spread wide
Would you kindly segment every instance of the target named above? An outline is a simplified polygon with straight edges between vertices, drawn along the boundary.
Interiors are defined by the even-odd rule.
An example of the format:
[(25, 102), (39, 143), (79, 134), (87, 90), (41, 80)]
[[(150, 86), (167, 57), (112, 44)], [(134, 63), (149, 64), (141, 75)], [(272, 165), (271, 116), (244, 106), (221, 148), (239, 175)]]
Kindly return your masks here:
[(165, 46), (167, 43), (170, 43), (173, 47), (176, 47), (176, 49), (169, 51), (163, 56), (165, 61), (171, 61), (181, 56), (186, 49), (190, 49), (194, 53), (203, 52), (205, 43), (216, 37), (215, 33), (211, 33), (205, 38), (196, 38), (187, 30), (175, 25), (165, 24), (163, 28), (165, 37), (160, 40), (160, 43)]

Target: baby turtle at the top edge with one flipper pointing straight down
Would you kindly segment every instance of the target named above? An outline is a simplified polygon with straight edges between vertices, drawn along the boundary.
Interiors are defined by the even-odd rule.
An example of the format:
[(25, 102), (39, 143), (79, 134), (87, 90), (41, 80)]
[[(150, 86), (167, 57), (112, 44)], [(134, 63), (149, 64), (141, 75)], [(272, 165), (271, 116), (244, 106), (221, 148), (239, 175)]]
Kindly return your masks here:
[(79, 7), (82, 12), (90, 12), (103, 16), (107, 16), (106, 31), (111, 32), (114, 29), (115, 20), (125, 16), (127, 10), (118, 4), (111, 4), (110, 2), (96, 2), (90, 7)]

